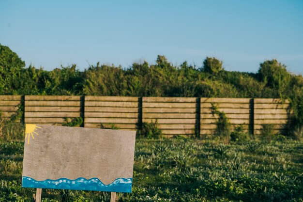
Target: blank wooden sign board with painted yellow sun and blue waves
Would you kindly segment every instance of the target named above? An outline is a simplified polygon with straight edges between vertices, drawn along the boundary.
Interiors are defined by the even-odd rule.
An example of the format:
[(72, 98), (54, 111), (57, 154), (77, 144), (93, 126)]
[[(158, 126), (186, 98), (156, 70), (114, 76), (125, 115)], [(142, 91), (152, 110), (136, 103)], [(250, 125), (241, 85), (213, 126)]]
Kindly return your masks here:
[(22, 187), (131, 192), (135, 131), (26, 124)]

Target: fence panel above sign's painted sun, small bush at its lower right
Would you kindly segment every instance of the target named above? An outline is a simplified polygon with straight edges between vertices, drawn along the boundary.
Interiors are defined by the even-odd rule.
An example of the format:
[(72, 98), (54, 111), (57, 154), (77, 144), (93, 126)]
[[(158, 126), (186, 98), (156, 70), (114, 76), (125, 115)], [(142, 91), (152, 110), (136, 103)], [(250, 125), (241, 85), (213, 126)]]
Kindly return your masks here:
[(61, 125), (81, 116), (80, 96), (25, 95), (24, 105), (26, 124)]

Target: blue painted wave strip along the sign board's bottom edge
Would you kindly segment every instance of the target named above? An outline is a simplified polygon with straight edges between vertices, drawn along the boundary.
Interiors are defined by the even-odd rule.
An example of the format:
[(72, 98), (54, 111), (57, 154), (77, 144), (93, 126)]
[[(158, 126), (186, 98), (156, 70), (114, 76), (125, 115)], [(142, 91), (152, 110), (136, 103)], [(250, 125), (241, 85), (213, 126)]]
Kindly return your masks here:
[(85, 179), (79, 177), (76, 180), (60, 178), (58, 180), (37, 181), (30, 177), (22, 176), (22, 187), (30, 188), (54, 188), (76, 189), (92, 191), (132, 192), (132, 178), (118, 178), (111, 184), (105, 185), (98, 178)]

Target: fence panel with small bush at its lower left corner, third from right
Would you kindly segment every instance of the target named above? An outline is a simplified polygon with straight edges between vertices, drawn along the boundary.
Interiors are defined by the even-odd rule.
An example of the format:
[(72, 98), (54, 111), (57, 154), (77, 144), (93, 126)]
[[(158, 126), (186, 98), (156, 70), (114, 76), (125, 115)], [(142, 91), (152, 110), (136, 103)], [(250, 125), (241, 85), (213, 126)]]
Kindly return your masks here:
[(193, 135), (197, 124), (197, 98), (143, 97), (142, 122), (157, 121), (163, 135)]

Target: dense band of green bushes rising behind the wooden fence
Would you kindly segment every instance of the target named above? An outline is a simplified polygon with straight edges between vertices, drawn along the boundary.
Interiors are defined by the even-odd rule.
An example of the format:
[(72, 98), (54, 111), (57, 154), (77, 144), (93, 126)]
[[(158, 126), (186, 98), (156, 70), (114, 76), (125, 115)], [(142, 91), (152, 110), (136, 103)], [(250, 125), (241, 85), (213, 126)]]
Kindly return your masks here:
[(258, 73), (225, 71), (215, 58), (206, 58), (201, 67), (187, 62), (174, 66), (164, 56), (155, 64), (133, 63), (129, 68), (97, 63), (85, 71), (76, 65), (45, 71), (25, 67), (1, 45), (0, 76), (0, 94), (274, 98), (302, 94), (303, 88), (302, 76), (290, 74), (276, 60), (261, 63)]

